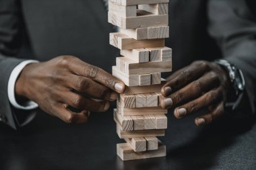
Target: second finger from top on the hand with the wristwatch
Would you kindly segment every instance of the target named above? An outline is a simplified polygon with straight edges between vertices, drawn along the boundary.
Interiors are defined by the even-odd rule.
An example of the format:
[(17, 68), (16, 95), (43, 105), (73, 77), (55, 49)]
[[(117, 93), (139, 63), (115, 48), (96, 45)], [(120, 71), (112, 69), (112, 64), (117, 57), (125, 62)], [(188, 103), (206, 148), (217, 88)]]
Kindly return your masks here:
[[(172, 105), (179, 105), (185, 101), (196, 99), (201, 96), (203, 92), (212, 89), (218, 85), (218, 75), (214, 72), (209, 72), (203, 75), (203, 77), (189, 83), (189, 85), (182, 89), (172, 93), (169, 97), (172, 99)], [(170, 108), (172, 105), (164, 105)]]

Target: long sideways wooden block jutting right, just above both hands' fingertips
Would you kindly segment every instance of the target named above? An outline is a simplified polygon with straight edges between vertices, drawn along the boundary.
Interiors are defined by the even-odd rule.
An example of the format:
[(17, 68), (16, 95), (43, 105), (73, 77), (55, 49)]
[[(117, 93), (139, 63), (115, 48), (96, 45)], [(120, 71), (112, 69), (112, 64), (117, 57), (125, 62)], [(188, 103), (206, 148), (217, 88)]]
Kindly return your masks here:
[(117, 60), (117, 65), (125, 65), (124, 73), (127, 75), (141, 75), (141, 74), (150, 74), (150, 73), (162, 73), (172, 71), (172, 62), (171, 61), (156, 61), (156, 62), (142, 62), (135, 63), (134, 60), (131, 60), (126, 57), (119, 57)]

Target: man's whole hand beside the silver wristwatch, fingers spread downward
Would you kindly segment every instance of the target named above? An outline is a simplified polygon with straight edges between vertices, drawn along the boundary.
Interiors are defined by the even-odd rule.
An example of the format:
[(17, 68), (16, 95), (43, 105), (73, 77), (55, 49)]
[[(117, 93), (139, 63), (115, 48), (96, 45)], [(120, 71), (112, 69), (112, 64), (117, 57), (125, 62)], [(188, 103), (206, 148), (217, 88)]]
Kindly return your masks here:
[(224, 113), (228, 87), (228, 75), (219, 65), (195, 61), (168, 77), (160, 103), (162, 108), (175, 108), (176, 118), (207, 108), (209, 112), (195, 118), (195, 124), (209, 124)]

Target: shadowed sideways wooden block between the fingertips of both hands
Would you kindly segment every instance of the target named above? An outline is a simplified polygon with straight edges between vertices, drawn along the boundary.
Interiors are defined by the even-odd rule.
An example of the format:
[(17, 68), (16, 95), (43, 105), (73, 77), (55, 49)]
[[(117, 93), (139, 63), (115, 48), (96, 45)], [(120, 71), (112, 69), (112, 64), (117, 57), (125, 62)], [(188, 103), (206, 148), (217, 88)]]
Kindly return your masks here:
[[(152, 73), (151, 77), (156, 73)], [(152, 83), (155, 83), (154, 78), (151, 79), (153, 81)], [(164, 79), (161, 79), (160, 84), (154, 84), (154, 85), (148, 85), (146, 88), (143, 86), (133, 86), (133, 87), (126, 87), (125, 88), (125, 95), (131, 95), (131, 94), (143, 94), (143, 93), (153, 93), (153, 92), (160, 92), (162, 89), (162, 86), (166, 83)]]

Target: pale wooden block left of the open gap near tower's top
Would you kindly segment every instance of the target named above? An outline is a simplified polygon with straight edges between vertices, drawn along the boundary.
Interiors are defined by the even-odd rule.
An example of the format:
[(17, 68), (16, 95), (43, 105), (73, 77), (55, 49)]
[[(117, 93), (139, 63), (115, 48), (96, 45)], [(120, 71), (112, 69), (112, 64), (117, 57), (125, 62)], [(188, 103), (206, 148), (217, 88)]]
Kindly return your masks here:
[(124, 5), (117, 5), (117, 3), (113, 3), (108, 1), (108, 11), (116, 13), (117, 15), (121, 15), (123, 17), (135, 17), (137, 16), (137, 6), (124, 6)]

